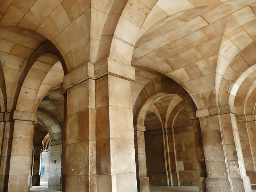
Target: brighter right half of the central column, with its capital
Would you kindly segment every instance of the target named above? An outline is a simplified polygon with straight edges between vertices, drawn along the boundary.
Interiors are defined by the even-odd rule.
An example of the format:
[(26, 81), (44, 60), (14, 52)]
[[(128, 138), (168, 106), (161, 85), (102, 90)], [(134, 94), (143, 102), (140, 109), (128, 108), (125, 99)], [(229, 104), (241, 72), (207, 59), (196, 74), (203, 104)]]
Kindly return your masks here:
[(95, 65), (97, 192), (137, 192), (130, 81), (132, 66)]

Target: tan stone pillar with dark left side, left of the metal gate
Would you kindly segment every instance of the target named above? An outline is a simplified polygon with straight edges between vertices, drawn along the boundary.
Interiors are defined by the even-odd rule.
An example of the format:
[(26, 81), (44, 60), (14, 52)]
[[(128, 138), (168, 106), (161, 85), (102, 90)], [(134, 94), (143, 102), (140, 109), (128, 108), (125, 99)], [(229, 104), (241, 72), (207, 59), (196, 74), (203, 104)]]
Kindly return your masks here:
[[(14, 111), (5, 114), (4, 142), (2, 150), (1, 184), (3, 192), (27, 192), (30, 190), (30, 171), (34, 122), (31, 112)], [(1, 180), (2, 183), (2, 180)]]

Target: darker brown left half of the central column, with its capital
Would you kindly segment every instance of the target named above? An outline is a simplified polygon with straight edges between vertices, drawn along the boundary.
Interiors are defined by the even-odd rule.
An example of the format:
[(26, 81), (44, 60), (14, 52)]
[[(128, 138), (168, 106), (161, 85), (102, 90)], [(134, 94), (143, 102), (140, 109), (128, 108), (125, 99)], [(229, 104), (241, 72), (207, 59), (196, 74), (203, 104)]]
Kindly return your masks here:
[(96, 192), (94, 65), (86, 63), (64, 76), (67, 90), (62, 192)]

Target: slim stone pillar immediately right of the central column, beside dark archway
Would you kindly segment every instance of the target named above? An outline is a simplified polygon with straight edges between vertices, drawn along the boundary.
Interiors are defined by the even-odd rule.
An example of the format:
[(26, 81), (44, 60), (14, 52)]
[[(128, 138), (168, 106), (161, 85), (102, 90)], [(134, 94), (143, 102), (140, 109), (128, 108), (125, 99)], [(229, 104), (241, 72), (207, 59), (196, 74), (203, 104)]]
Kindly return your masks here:
[(149, 177), (147, 176), (145, 136), (146, 127), (143, 125), (134, 126), (134, 146), (136, 161), (136, 176), (138, 192), (150, 192)]

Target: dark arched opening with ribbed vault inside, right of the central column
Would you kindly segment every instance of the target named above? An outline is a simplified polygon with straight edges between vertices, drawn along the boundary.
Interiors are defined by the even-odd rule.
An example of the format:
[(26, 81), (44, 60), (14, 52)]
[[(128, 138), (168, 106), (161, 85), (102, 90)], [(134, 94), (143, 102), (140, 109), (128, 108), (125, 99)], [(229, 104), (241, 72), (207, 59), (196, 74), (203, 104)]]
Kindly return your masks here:
[(156, 78), (141, 89), (134, 103), (137, 178), (141, 191), (147, 177), (152, 190), (155, 186), (205, 189), (204, 151), (195, 110), (191, 97), (170, 78)]

